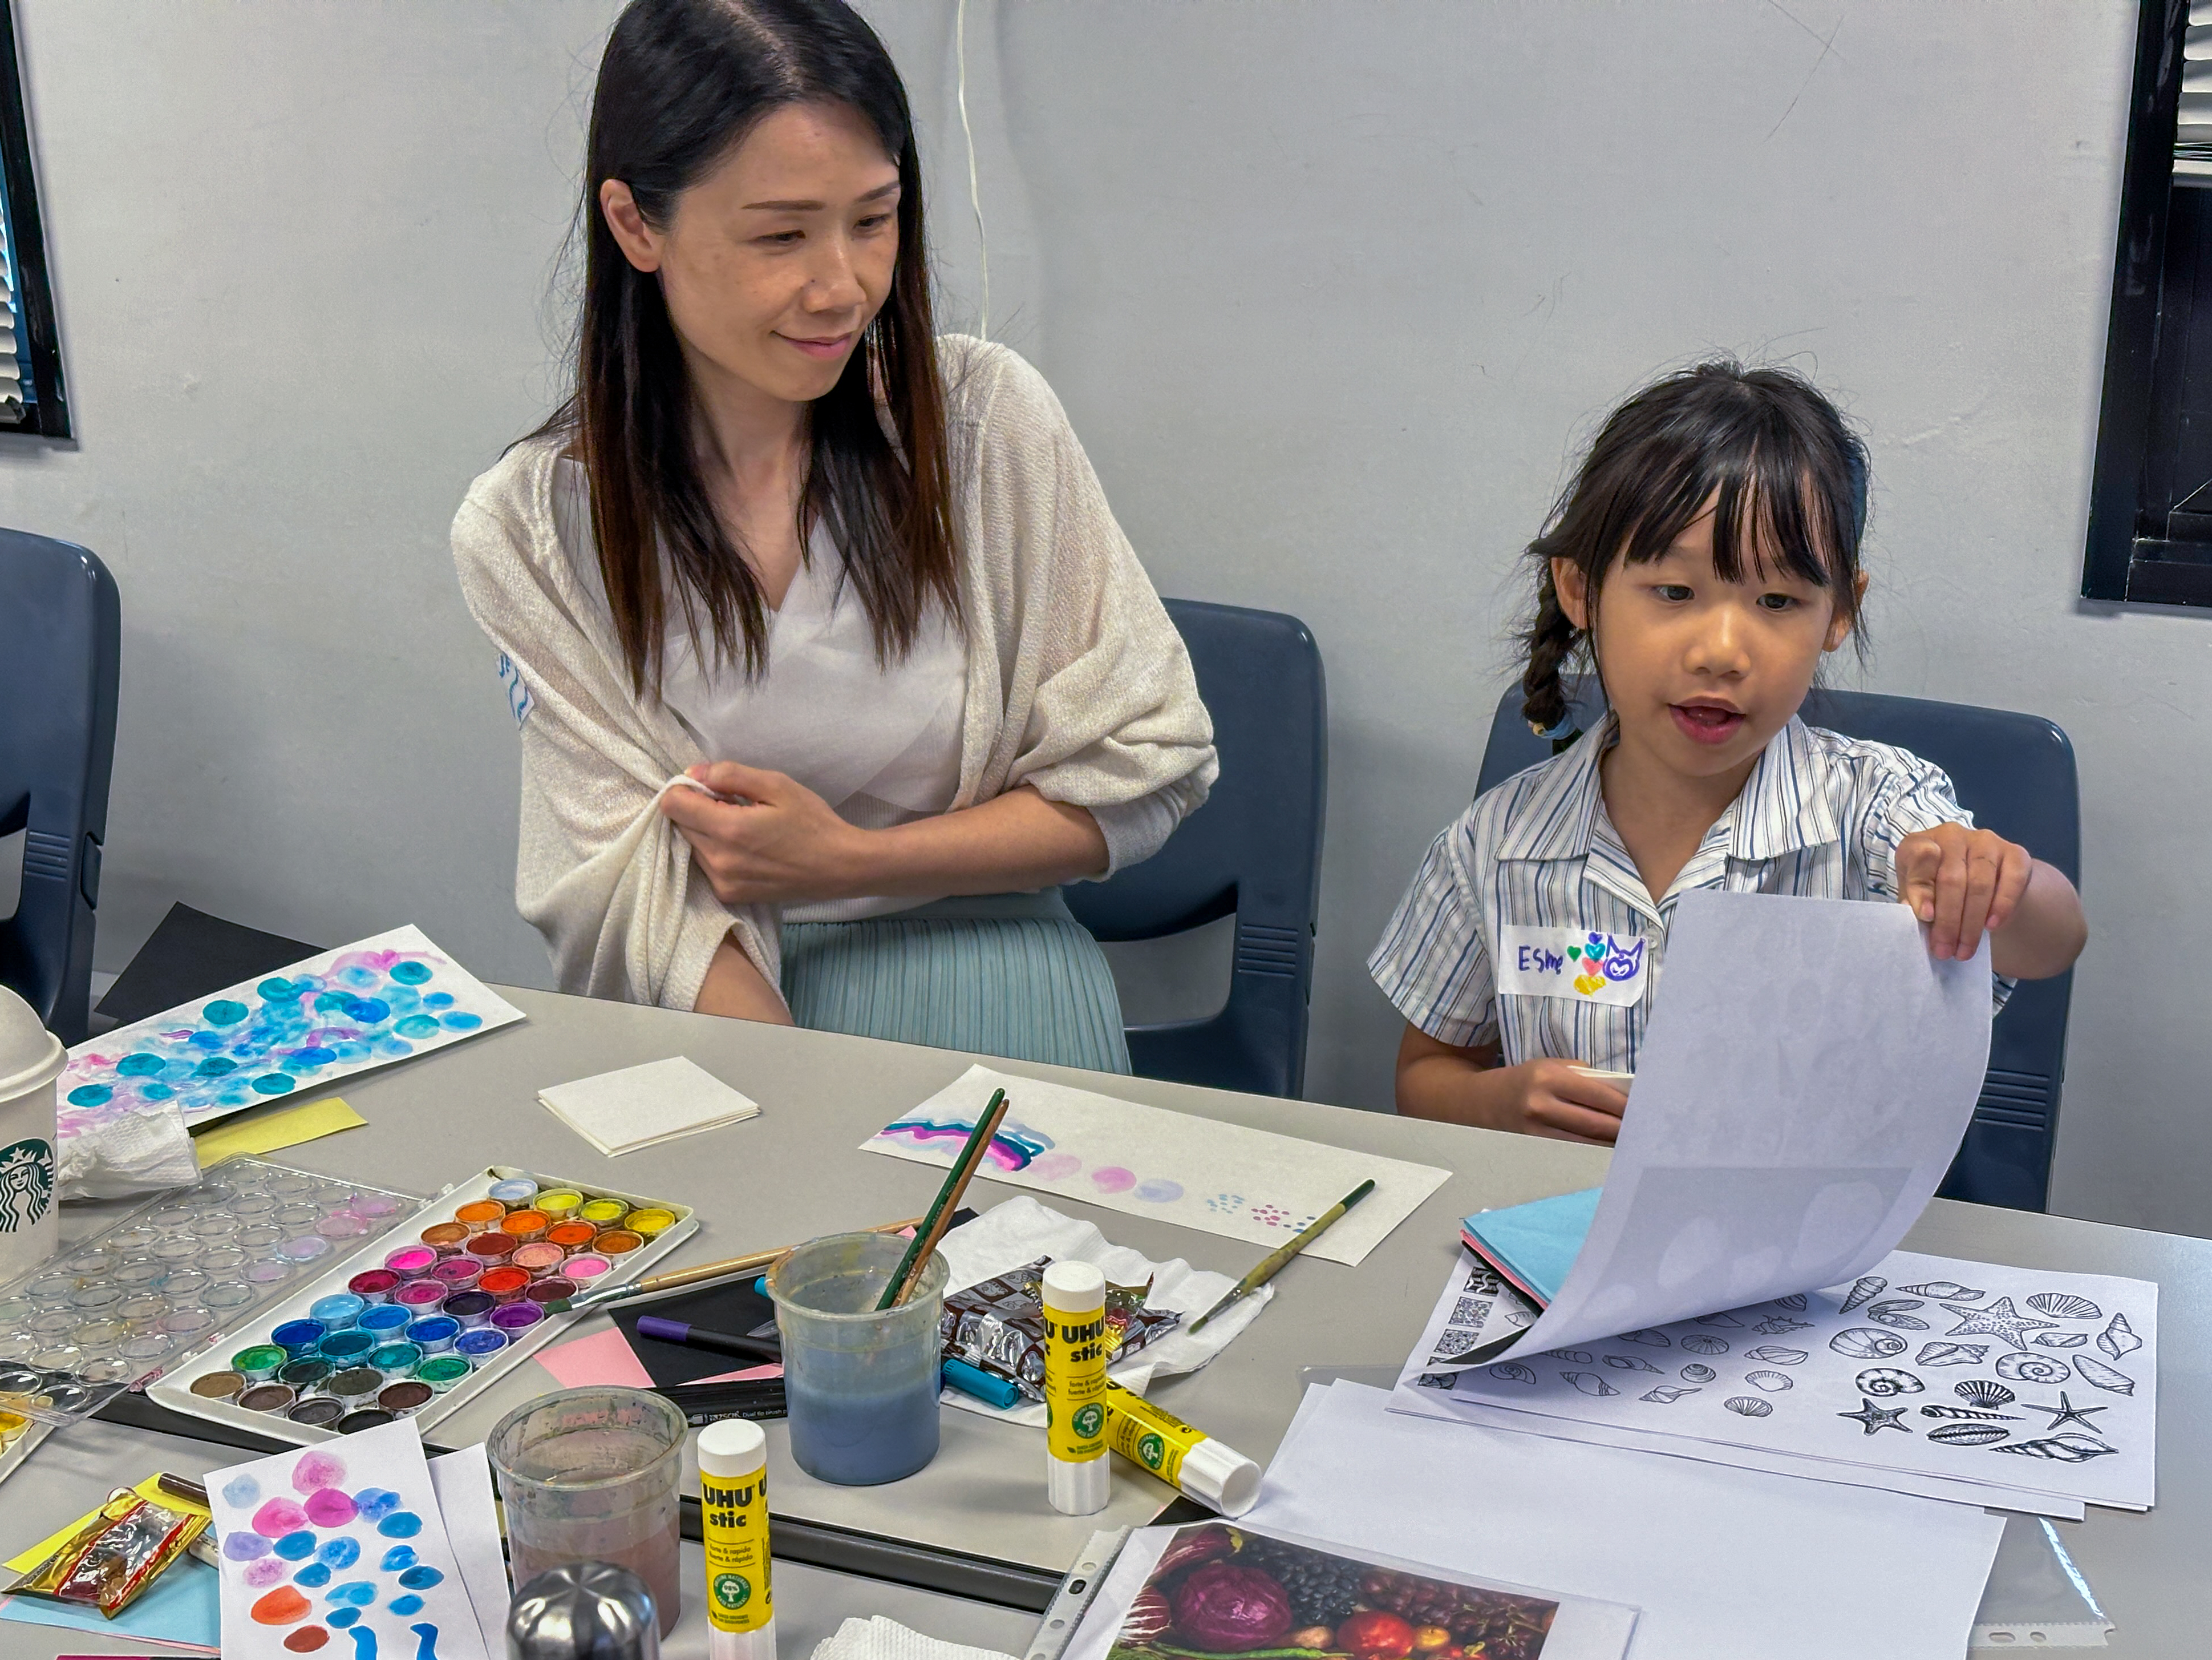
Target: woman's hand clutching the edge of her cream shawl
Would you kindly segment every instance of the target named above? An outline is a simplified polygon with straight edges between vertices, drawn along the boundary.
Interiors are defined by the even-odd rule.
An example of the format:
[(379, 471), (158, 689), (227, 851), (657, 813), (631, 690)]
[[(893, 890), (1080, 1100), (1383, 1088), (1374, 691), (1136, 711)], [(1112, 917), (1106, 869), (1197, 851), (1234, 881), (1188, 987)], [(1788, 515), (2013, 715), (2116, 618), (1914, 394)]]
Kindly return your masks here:
[(692, 859), (723, 905), (787, 905), (865, 892), (869, 830), (845, 823), (814, 790), (737, 761), (695, 766), (686, 777), (714, 795), (661, 790), (661, 815), (692, 845)]

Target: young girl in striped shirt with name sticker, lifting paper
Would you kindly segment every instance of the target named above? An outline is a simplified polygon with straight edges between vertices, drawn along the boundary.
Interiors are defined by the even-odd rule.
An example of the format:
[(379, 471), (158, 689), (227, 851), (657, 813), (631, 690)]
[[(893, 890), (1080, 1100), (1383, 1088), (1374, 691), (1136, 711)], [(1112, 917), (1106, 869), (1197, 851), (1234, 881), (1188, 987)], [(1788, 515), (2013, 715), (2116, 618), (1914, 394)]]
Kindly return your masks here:
[(1796, 715), (1858, 631), (1865, 478), (1783, 370), (1705, 363), (1606, 421), (1528, 544), (1522, 713), (1566, 739), (1577, 664), (1608, 710), (1429, 845), (1367, 961), (1407, 1020), (1398, 1111), (1610, 1142), (1628, 1098), (1593, 1071), (1635, 1071), (1692, 888), (1905, 901), (1936, 956), (1986, 930), (2000, 1000), (2081, 952), (2066, 876), (1975, 830), (1942, 770)]

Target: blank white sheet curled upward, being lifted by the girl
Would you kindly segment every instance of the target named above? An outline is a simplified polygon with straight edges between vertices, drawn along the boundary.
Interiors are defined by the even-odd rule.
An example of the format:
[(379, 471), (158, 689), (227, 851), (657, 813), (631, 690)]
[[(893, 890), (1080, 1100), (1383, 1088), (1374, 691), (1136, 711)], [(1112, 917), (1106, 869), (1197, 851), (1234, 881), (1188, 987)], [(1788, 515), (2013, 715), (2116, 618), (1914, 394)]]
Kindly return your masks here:
[(1582, 1255), (1504, 1357), (1851, 1279), (1896, 1248), (1989, 1065), (1989, 943), (1905, 905), (1688, 892)]

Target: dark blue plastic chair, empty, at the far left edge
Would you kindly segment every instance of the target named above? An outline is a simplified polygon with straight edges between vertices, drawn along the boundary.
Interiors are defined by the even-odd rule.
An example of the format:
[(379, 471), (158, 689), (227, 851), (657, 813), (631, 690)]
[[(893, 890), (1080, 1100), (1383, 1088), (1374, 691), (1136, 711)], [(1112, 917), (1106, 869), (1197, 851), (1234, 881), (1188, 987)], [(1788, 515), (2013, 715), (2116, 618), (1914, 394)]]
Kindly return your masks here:
[(0, 921), (0, 983), (62, 1042), (93, 989), (108, 832), (122, 602), (97, 556), (0, 531), (0, 837), (27, 830), (22, 896)]

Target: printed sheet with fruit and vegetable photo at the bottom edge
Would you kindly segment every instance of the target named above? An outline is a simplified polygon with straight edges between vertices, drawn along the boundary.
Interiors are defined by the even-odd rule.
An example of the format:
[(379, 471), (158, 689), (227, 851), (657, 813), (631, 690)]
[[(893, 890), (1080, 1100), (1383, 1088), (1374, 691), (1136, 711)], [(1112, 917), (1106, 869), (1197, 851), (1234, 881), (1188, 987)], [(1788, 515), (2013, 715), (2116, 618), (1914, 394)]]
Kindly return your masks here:
[[(1292, 1549), (1283, 1549), (1283, 1545), (1290, 1545)], [(1170, 1552), (1170, 1567), (1166, 1574), (1159, 1574), (1157, 1569)], [(1307, 1556), (1307, 1552), (1318, 1552), (1318, 1560), (1316, 1556)], [(1453, 1596), (1455, 1600), (1458, 1594), (1453, 1587), (1471, 1589), (1475, 1591), (1475, 1598), (1471, 1598), (1473, 1609), (1469, 1609), (1469, 1614), (1475, 1620), (1486, 1622), (1502, 1614), (1528, 1620), (1548, 1620), (1548, 1629), (1540, 1627), (1542, 1660), (1621, 1660), (1628, 1651), (1628, 1640), (1637, 1629), (1637, 1611), (1619, 1602), (1566, 1596), (1562, 1591), (1533, 1585), (1502, 1585), (1495, 1578), (1473, 1576), (1462, 1569), (1444, 1569), (1427, 1560), (1416, 1563), (1389, 1552), (1369, 1549), (1365, 1545), (1292, 1536), (1283, 1529), (1267, 1529), (1265, 1536), (1261, 1536), (1252, 1529), (1250, 1521), (1243, 1518), (1234, 1529), (1223, 1527), (1221, 1523), (1188, 1523), (1181, 1527), (1139, 1527), (1130, 1534), (1121, 1554), (1115, 1558), (1113, 1569), (1108, 1569), (1106, 1580), (1099, 1585), (1088, 1611), (1084, 1614), (1082, 1625), (1075, 1629), (1062, 1660), (1106, 1660), (1106, 1656), (1115, 1651), (1124, 1656), (1152, 1651), (1203, 1653), (1208, 1649), (1208, 1638), (1179, 1629), (1175, 1605), (1181, 1600), (1179, 1585), (1188, 1576), (1212, 1565), (1206, 1560), (1208, 1554), (1217, 1560), (1225, 1560), (1230, 1567), (1245, 1567), (1245, 1571), (1267, 1574), (1270, 1578), (1276, 1578), (1287, 1563), (1303, 1565), (1305, 1571), (1360, 1565), (1427, 1580), (1420, 1589), (1436, 1596)], [(1177, 1567), (1177, 1563), (1181, 1563), (1181, 1567)], [(1146, 1629), (1146, 1636), (1137, 1638), (1135, 1633), (1128, 1633), (1128, 1625), (1133, 1605), (1146, 1589), (1155, 1591), (1159, 1602), (1137, 1616)], [(1245, 1596), (1252, 1596), (1250, 1587), (1245, 1589)], [(1462, 1607), (1467, 1607), (1467, 1602), (1462, 1602)], [(1155, 1629), (1161, 1611), (1166, 1611), (1170, 1625), (1166, 1629)], [(1292, 1602), (1290, 1614), (1279, 1614), (1276, 1620), (1281, 1622), (1283, 1618), (1290, 1618), (1294, 1622), (1303, 1622), (1305, 1614), (1314, 1614), (1318, 1618), (1318, 1609), (1307, 1607), (1301, 1614), (1296, 1602)], [(1484, 1625), (1478, 1622), (1451, 1633), (1462, 1638), (1469, 1631), (1480, 1633)], [(1294, 1638), (1296, 1629), (1285, 1627), (1279, 1645), (1312, 1651), (1307, 1645), (1318, 1640)], [(1340, 1636), (1332, 1633), (1329, 1642), (1323, 1645), (1323, 1651), (1340, 1640)]]

